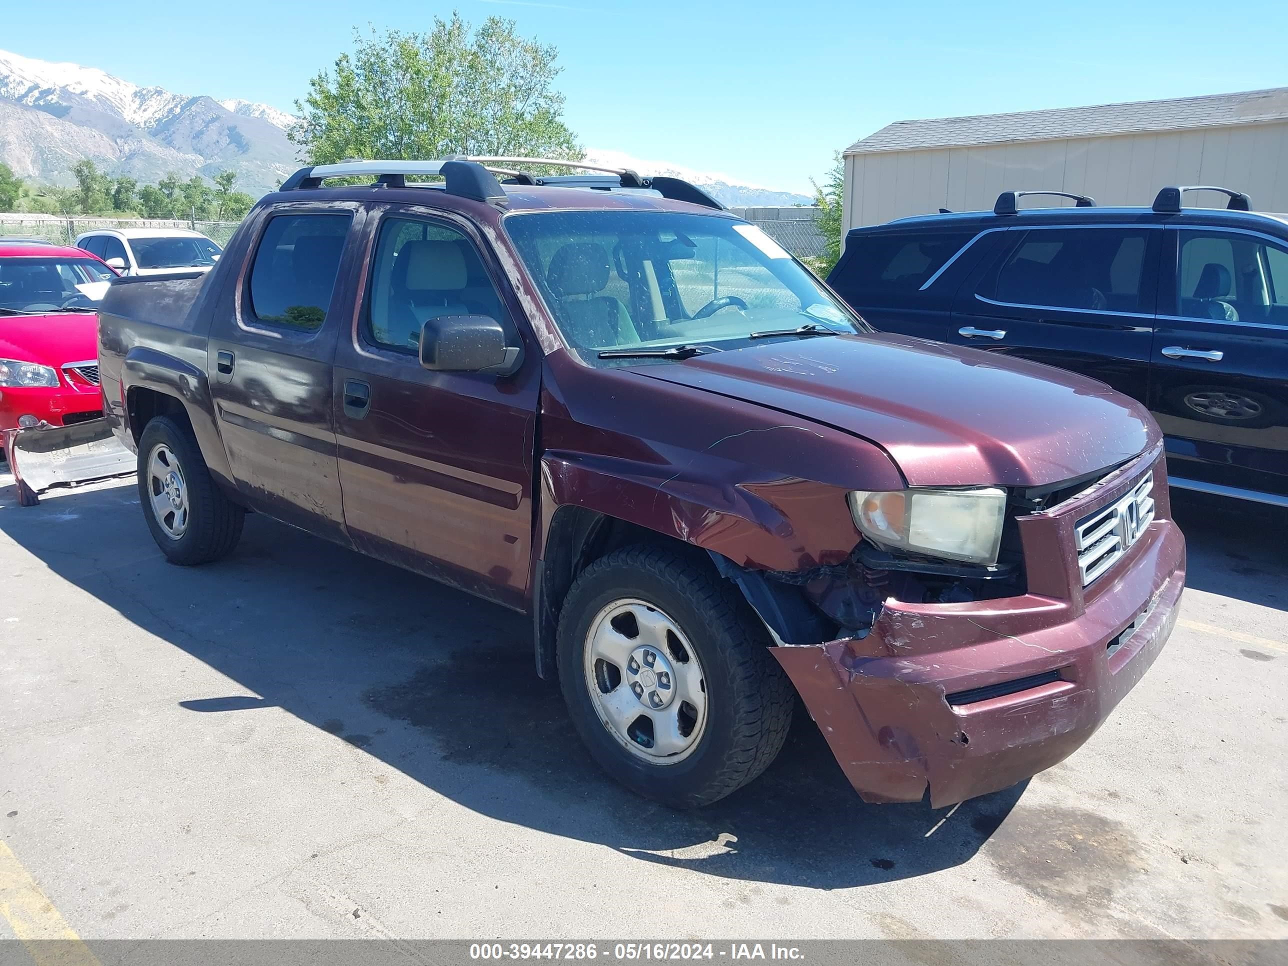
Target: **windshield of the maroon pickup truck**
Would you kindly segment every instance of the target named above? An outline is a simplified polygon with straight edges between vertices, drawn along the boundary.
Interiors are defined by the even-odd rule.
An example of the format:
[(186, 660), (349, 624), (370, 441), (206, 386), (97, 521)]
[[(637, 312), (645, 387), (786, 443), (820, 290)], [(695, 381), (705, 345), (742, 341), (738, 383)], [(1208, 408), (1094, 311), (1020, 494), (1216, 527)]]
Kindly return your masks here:
[(751, 344), (753, 334), (792, 337), (802, 326), (823, 334), (867, 328), (744, 222), (675, 211), (540, 211), (515, 213), (505, 228), (564, 336), (595, 366), (622, 365), (600, 352), (717, 350)]

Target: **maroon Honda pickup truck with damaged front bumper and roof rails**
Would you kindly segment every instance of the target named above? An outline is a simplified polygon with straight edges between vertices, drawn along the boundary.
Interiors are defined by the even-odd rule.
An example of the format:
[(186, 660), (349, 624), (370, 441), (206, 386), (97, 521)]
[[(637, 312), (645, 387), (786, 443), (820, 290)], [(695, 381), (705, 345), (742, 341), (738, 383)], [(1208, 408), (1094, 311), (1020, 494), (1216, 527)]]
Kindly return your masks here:
[(1149, 413), (873, 332), (684, 182), (523, 167), (304, 169), (209, 276), (113, 282), (166, 556), (255, 510), (531, 614), (590, 753), (671, 805), (760, 774), (797, 694), (868, 801), (1081, 746), (1184, 583)]

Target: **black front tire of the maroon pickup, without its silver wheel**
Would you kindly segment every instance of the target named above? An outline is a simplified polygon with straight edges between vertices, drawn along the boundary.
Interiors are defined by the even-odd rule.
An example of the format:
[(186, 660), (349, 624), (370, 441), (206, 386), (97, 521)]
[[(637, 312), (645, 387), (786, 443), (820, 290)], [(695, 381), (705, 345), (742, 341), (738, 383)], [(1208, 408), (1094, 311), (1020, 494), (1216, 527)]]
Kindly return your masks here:
[[(652, 764), (625, 748), (590, 696), (587, 635), (603, 608), (625, 599), (665, 612), (697, 652), (703, 672), (705, 729), (688, 757), (675, 764)], [(737, 587), (705, 560), (629, 546), (595, 560), (568, 591), (559, 617), (559, 681), (573, 725), (609, 775), (672, 808), (698, 808), (751, 782), (783, 747), (795, 689), (769, 643)]]

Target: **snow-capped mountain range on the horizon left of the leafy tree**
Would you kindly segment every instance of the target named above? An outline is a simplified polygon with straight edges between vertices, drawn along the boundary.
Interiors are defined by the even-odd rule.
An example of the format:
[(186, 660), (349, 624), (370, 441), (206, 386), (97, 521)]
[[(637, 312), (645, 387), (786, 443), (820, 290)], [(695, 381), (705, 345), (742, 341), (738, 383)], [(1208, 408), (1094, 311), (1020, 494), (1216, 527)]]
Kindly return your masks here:
[(261, 193), (298, 167), (285, 133), (292, 121), (268, 104), (174, 94), (0, 50), (0, 161), (23, 178), (68, 184), (88, 157), (153, 182), (232, 169), (241, 191)]

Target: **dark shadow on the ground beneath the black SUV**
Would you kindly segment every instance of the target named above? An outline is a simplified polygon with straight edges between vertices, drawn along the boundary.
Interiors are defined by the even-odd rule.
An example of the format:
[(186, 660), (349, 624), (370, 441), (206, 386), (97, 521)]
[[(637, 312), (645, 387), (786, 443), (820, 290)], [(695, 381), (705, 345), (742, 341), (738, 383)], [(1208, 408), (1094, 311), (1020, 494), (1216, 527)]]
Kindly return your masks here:
[(1288, 611), (1288, 510), (1172, 489), (1185, 533), (1185, 586)]

